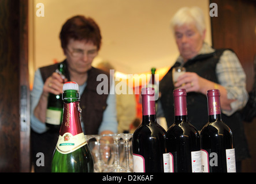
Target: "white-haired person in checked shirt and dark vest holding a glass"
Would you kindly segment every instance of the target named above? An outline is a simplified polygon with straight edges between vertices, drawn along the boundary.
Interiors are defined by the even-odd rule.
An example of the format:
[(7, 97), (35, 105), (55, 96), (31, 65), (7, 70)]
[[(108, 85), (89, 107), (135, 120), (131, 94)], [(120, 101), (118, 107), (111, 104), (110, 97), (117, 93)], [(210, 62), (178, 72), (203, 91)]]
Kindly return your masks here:
[(221, 93), (222, 120), (231, 128), (236, 151), (237, 171), (240, 161), (249, 156), (242, 119), (238, 110), (248, 100), (246, 75), (231, 49), (214, 49), (205, 43), (205, 18), (199, 7), (183, 7), (172, 18), (171, 29), (180, 56), (172, 66), (183, 66), (186, 72), (173, 83), (172, 68), (159, 83), (162, 110), (168, 127), (174, 122), (173, 89), (187, 91), (188, 118), (198, 131), (208, 121), (207, 90)]

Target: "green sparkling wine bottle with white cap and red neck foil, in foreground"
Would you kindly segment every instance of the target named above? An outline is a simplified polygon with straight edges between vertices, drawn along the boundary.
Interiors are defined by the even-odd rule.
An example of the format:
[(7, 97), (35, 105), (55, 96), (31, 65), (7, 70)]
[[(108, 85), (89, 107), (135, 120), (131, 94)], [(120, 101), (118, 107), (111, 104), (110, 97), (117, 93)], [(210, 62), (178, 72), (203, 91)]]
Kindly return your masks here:
[(63, 91), (63, 121), (51, 162), (51, 172), (92, 173), (94, 163), (80, 122), (79, 86), (75, 82), (66, 82)]

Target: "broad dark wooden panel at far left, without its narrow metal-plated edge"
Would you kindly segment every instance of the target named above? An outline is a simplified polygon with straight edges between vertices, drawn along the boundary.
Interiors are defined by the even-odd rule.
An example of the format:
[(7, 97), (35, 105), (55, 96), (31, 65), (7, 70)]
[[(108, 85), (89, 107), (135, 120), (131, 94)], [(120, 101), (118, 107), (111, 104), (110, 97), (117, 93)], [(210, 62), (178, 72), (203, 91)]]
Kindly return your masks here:
[(20, 168), (18, 4), (0, 1), (0, 172)]

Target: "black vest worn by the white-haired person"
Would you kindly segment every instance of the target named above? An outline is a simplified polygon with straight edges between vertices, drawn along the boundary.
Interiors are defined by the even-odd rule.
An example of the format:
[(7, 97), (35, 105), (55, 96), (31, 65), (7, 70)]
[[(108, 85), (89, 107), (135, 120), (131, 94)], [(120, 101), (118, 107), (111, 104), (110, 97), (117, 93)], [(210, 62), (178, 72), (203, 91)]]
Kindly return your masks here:
[[(198, 55), (191, 60), (188, 60), (184, 67), (188, 72), (195, 72), (199, 76), (218, 83), (216, 76), (216, 65), (220, 60), (220, 56), (225, 49), (217, 49), (216, 52)], [(179, 63), (175, 63), (179, 66)], [(172, 68), (164, 76), (159, 83), (159, 92), (161, 92), (160, 102), (168, 127), (174, 122), (174, 106), (173, 106), (173, 82), (172, 82)], [(208, 121), (207, 97), (201, 93), (187, 93), (187, 112), (188, 120), (195, 126), (198, 131), (201, 131), (203, 126)], [(222, 120), (231, 128), (233, 132), (233, 140), (236, 151), (236, 158), (243, 159), (248, 157), (248, 147), (242, 119), (238, 112), (232, 116), (221, 114)]]

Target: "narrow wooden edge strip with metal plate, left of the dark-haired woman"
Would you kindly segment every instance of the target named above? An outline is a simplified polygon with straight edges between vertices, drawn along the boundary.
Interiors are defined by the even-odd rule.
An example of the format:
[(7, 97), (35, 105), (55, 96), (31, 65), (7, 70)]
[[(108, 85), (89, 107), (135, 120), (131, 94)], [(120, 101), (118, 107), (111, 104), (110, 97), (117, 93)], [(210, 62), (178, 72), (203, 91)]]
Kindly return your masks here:
[(28, 0), (20, 0), (20, 171), (31, 170), (28, 74)]

